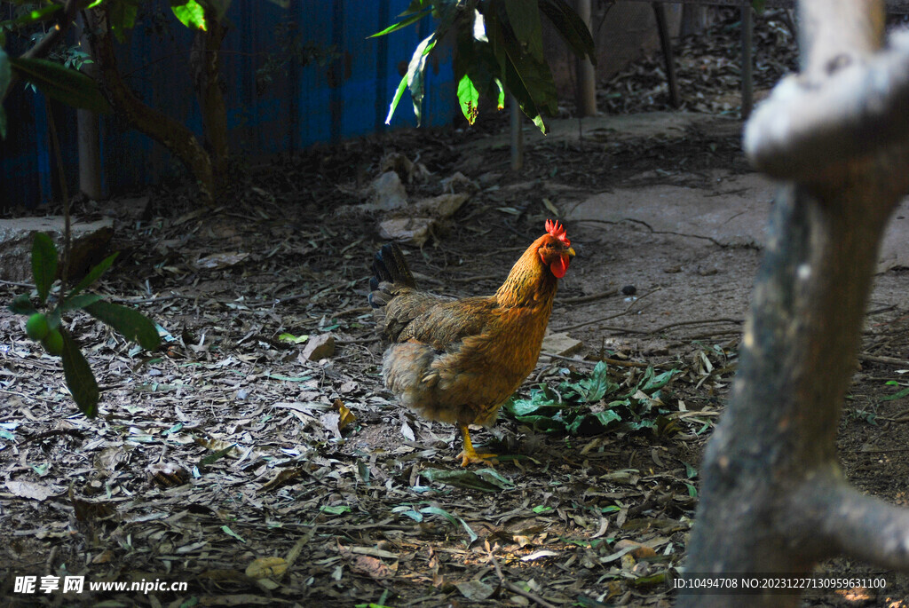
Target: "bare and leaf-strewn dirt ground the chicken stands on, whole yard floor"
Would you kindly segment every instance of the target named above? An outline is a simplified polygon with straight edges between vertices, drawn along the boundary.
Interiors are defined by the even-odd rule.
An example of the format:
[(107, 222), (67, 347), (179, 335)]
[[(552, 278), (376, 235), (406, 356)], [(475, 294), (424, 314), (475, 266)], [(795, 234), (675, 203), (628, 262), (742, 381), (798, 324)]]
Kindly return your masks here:
[[(144, 353), (65, 314), (103, 389), (90, 419), (60, 359), (25, 337), (25, 317), (0, 311), (0, 603), (670, 605), (666, 577), (684, 564), (774, 186), (749, 169), (734, 116), (565, 119), (545, 141), (527, 132), (520, 172), (506, 124), (237, 165), (215, 210), (179, 184), (77, 209), (115, 218), (120, 254), (95, 291), (154, 318), (165, 342)], [(558, 211), (577, 257), (550, 327), (582, 344), (544, 354), (518, 397), (603, 360), (624, 388), (648, 368), (674, 371), (640, 419), (545, 432), (503, 412), (473, 432), (500, 454), (489, 473), (458, 466), (451, 425), (396, 404), (365, 300), (380, 218), (345, 206), (365, 200), (391, 153), (425, 167), (410, 183), (403, 172), (411, 200), (466, 178), (455, 184), (468, 202), (425, 246), (406, 247), (429, 290), (494, 292)], [(909, 274), (897, 218), (839, 447), (852, 483), (905, 505)], [(0, 283), (0, 300), (28, 291)], [(323, 334), (335, 352), (311, 361), (306, 344)], [(821, 572), (888, 586), (812, 593), (804, 605), (909, 605), (902, 574), (845, 560)], [(15, 589), (15, 576), (66, 575), (85, 576), (85, 593)], [(187, 588), (87, 591), (134, 581)]]

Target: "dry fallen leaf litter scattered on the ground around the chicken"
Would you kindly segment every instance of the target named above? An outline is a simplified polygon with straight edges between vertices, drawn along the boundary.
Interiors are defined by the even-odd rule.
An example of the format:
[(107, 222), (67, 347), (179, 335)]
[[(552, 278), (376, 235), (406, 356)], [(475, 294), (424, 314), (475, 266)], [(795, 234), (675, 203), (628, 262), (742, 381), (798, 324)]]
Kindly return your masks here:
[[(389, 168), (384, 158), (407, 160), (398, 164), (415, 198), (469, 182), (454, 222), (436, 224), (410, 257), (432, 289), (490, 293), (558, 207), (553, 194), (523, 203), (501, 151), (462, 158), (458, 144), (490, 125), (239, 167), (242, 184), (215, 210), (179, 186), (77, 210), (115, 217), (122, 253), (99, 290), (155, 319), (165, 345), (144, 353), (90, 318), (65, 319), (104, 391), (87, 420), (59, 361), (0, 313), (0, 592), (50, 603), (16, 598), (12, 576), (81, 574), (189, 585), (64, 603), (669, 605), (666, 576), (684, 555), (699, 454), (740, 329), (685, 338), (665, 326), (657, 347), (585, 344), (541, 358), (477, 434), (503, 454), (494, 468), (457, 466), (454, 428), (406, 412), (382, 386), (365, 302), (377, 218), (335, 209)], [(623, 178), (577, 159), (560, 174), (575, 186)], [(531, 168), (564, 162), (529, 151)], [(18, 290), (0, 284), (0, 298)], [(584, 306), (609, 296), (599, 291), (566, 289), (554, 320), (589, 319)], [(334, 352), (303, 356), (323, 336)]]

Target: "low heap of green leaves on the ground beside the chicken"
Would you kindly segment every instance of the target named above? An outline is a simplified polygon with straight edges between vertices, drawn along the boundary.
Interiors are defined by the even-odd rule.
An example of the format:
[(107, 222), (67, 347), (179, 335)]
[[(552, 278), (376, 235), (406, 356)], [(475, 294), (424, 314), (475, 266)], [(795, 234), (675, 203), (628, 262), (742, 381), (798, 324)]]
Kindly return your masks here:
[(540, 384), (529, 398), (506, 401), (504, 411), (543, 433), (597, 434), (618, 428), (672, 431), (661, 397), (678, 370), (656, 374), (648, 367), (630, 384), (614, 382), (602, 361), (590, 374), (564, 371), (568, 378), (555, 389)]

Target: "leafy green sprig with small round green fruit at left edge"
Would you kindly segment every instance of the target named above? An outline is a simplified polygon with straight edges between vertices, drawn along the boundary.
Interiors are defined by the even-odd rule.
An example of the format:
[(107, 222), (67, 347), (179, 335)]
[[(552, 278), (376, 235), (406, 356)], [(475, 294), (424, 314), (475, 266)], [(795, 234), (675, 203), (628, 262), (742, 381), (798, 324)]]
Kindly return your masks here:
[(29, 294), (17, 295), (9, 306), (15, 314), (28, 316), (25, 333), (29, 338), (40, 343), (47, 354), (62, 357), (66, 386), (76, 405), (89, 417), (97, 414), (100, 391), (85, 355), (61, 324), (62, 314), (83, 310), (146, 350), (155, 350), (161, 344), (155, 324), (144, 314), (120, 304), (105, 302), (98, 294), (85, 293), (85, 289), (110, 268), (115, 258), (116, 254), (110, 255), (94, 266), (67, 294), (62, 294), (61, 287), (61, 294), (52, 302), (52, 287), (57, 274), (57, 250), (50, 236), (35, 234), (32, 243), (32, 274), (38, 302), (45, 310), (36, 308)]

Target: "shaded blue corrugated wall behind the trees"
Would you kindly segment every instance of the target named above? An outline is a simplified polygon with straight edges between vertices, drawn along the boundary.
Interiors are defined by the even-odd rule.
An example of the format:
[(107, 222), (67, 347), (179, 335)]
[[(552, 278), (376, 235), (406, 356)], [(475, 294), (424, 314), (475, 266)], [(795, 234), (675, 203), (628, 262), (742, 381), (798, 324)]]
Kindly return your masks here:
[[(227, 125), (233, 154), (275, 154), (320, 142), (336, 142), (389, 128), (414, 126), (409, 95), (385, 125), (385, 115), (415, 46), (430, 33), (421, 22), (380, 38), (367, 38), (386, 25), (409, 0), (291, 0), (287, 9), (266, 0), (234, 0), (228, 18), (223, 73)], [(149, 4), (145, 4), (148, 6)], [(192, 36), (155, 5), (167, 26), (155, 29), (145, 15), (118, 49), (121, 73), (136, 95), (189, 126), (201, 137), (202, 118), (187, 69)], [(263, 95), (256, 92), (256, 69), (263, 54), (276, 52), (275, 27), (293, 21), (302, 40), (335, 45), (341, 55), (326, 65), (285, 66)], [(22, 48), (8, 48), (18, 55)], [(424, 125), (446, 125), (457, 109), (450, 50), (437, 52), (427, 69)], [(403, 62), (403, 64), (402, 64)], [(75, 111), (51, 104), (69, 194), (78, 190)], [(44, 95), (21, 84), (7, 97), (9, 133), (0, 140), (0, 207), (34, 207), (59, 197), (57, 167), (50, 145)], [(115, 115), (102, 117), (101, 154), (106, 194), (117, 194), (180, 174), (181, 165), (148, 137), (126, 127)]]

